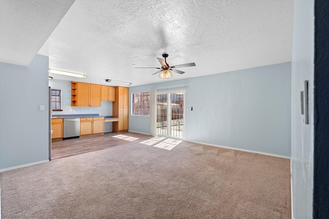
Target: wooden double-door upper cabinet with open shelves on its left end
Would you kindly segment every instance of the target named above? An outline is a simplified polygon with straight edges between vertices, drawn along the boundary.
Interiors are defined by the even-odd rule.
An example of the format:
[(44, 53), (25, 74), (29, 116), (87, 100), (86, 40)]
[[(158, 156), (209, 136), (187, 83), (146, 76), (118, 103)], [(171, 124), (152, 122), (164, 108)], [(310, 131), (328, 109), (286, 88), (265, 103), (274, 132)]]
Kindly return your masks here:
[(101, 107), (102, 86), (71, 82), (72, 107)]

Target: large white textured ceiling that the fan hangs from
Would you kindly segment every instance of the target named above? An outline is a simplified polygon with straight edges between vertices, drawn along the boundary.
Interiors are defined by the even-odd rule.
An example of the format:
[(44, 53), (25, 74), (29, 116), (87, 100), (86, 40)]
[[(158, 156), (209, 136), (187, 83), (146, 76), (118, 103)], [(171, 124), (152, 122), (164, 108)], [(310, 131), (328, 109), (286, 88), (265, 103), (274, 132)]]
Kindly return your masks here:
[[(44, 7), (53, 4), (39, 2)], [(35, 13), (36, 6), (25, 5), (24, 14)], [(56, 13), (66, 10), (56, 8)], [(38, 54), (49, 56), (49, 68), (87, 75), (77, 79), (52, 74), (56, 79), (110, 85), (104, 81), (109, 78), (137, 86), (289, 62), (293, 12), (293, 0), (76, 0), (43, 46), (35, 39), (25, 47), (31, 49), (26, 53), (35, 53), (37, 44), (42, 46)], [(41, 13), (35, 22), (45, 22), (51, 14)], [(36, 32), (49, 31), (46, 25), (38, 28)], [(36, 34), (24, 33), (17, 40), (25, 37)], [(169, 65), (195, 62), (196, 67), (180, 68), (186, 73), (161, 79), (152, 75), (157, 69), (132, 66), (160, 67), (156, 57), (164, 52)], [(21, 59), (26, 62), (17, 57), (18, 64)]]

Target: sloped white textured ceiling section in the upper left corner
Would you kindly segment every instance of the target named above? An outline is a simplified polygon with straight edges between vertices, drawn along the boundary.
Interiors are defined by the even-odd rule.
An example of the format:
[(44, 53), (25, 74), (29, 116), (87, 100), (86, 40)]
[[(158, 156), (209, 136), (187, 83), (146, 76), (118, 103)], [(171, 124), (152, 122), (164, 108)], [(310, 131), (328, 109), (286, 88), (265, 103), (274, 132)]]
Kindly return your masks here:
[(27, 66), (74, 0), (0, 0), (0, 62)]

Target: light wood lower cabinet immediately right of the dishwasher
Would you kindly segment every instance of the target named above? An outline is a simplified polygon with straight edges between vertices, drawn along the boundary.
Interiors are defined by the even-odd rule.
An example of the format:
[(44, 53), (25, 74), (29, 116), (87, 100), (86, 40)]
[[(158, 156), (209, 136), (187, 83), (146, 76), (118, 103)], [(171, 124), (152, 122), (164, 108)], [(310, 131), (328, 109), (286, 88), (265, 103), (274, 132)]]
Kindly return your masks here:
[(104, 117), (80, 118), (80, 136), (104, 133)]

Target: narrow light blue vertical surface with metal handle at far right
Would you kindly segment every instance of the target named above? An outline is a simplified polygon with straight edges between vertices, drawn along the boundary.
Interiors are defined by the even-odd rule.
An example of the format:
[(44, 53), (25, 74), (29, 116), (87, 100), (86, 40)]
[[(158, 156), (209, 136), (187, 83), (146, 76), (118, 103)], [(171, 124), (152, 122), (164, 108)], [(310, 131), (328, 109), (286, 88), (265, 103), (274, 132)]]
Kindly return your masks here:
[[(291, 62), (291, 170), (295, 218), (313, 216), (314, 151), (314, 0), (294, 2)], [(300, 91), (308, 80), (309, 125), (302, 121)]]

